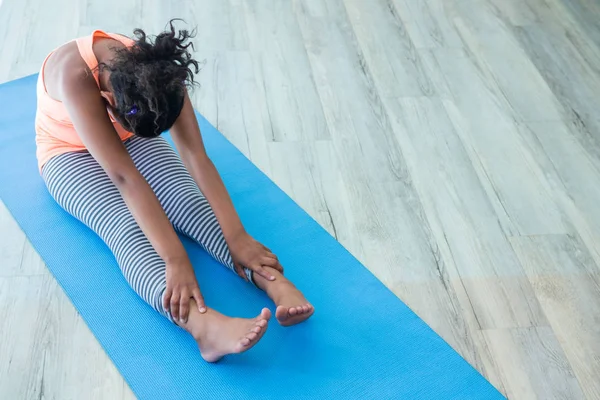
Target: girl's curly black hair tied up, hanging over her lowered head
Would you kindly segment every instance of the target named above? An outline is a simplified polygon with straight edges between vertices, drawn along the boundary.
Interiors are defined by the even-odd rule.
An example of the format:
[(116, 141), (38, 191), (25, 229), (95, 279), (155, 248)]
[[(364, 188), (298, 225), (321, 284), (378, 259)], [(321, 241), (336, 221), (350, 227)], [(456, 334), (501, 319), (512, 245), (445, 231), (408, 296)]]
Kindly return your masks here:
[(173, 21), (154, 41), (135, 29), (133, 46), (115, 49), (110, 63), (100, 66), (110, 71), (115, 119), (137, 136), (159, 136), (175, 123), (185, 89), (194, 85), (194, 72), (199, 71), (188, 51), (194, 49), (188, 41), (194, 32), (176, 32)]

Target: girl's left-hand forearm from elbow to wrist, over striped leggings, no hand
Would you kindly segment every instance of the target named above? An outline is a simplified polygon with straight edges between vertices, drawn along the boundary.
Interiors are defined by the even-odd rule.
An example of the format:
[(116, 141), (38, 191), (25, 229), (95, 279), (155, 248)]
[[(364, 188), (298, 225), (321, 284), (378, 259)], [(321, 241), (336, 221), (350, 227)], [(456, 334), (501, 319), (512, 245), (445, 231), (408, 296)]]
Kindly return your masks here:
[(134, 219), (158, 255), (167, 263), (185, 260), (187, 253), (160, 202), (144, 177), (133, 171), (116, 185)]

